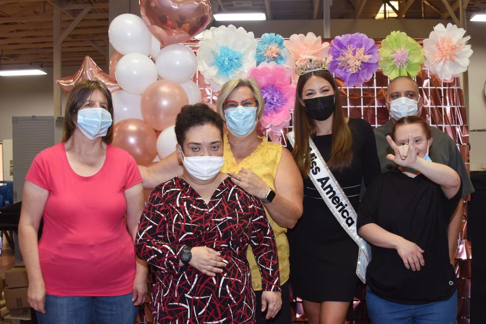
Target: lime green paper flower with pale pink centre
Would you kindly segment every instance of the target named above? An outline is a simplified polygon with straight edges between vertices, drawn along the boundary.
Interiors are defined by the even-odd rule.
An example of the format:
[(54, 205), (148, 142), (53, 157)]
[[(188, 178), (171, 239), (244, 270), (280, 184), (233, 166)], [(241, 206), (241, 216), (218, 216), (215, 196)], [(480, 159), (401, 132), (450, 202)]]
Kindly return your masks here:
[(403, 75), (414, 77), (424, 63), (424, 50), (412, 37), (402, 31), (392, 31), (381, 42), (380, 68), (390, 79)]

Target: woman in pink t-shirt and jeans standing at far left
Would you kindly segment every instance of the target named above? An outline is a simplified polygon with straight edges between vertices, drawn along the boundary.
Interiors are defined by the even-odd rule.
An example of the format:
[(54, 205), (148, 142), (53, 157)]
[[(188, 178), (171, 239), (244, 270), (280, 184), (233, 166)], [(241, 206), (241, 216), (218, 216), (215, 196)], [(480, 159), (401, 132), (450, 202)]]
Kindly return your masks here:
[(25, 178), (19, 242), (28, 301), (39, 323), (133, 324), (146, 294), (146, 264), (133, 245), (142, 178), (134, 158), (110, 145), (113, 104), (103, 83), (76, 85), (64, 115), (62, 142), (37, 154)]

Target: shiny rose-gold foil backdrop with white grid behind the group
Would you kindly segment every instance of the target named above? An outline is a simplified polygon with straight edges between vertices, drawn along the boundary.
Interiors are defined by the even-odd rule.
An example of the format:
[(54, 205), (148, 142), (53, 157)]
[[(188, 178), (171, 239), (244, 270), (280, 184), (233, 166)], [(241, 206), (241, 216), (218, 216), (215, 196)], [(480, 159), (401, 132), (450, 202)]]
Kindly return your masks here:
[[(331, 39), (323, 41), (330, 42)], [(421, 42), (421, 39), (417, 39)], [(381, 39), (376, 39), (381, 43)], [(197, 50), (197, 41), (186, 44), (194, 51)], [(423, 68), (415, 78), (420, 89), (420, 96), (424, 100), (422, 117), (428, 123), (451, 136), (457, 143), (462, 157), (469, 171), (469, 132), (466, 120), (466, 107), (464, 94), (459, 84), (459, 78), (452, 82), (441, 82), (436, 75), (431, 75), (428, 69)], [(204, 77), (199, 72), (194, 76), (194, 82), (199, 85), (202, 93), (202, 102), (214, 104), (217, 93), (205, 84)], [(389, 78), (381, 70), (376, 71), (373, 78), (361, 87), (346, 87), (339, 78), (336, 84), (341, 94), (341, 103), (347, 116), (366, 119), (373, 127), (378, 127), (389, 119), (386, 109), (386, 88)], [(292, 125), (292, 124), (291, 124)], [(289, 129), (291, 129), (290, 127)], [(467, 206), (464, 208), (463, 223), (460, 231), (459, 247), (456, 252), (456, 274), (458, 276), (458, 324), (469, 323), (469, 301), (471, 292), (471, 245), (467, 241)], [(364, 286), (360, 287), (353, 301), (353, 307), (348, 313), (349, 323), (370, 323), (366, 311)], [(302, 303), (297, 298), (292, 302), (293, 320), (296, 323), (305, 322)], [(150, 311), (145, 309), (145, 315)]]

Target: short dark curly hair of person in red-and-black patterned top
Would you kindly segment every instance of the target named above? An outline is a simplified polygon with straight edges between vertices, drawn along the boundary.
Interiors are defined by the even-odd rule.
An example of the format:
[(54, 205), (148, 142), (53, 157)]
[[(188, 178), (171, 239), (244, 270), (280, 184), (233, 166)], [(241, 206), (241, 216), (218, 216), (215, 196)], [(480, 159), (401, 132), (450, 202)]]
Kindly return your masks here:
[(187, 131), (194, 126), (206, 124), (216, 126), (221, 134), (221, 139), (223, 138), (223, 118), (216, 111), (204, 103), (183, 106), (181, 112), (177, 114), (176, 127), (174, 129), (177, 143), (182, 148)]

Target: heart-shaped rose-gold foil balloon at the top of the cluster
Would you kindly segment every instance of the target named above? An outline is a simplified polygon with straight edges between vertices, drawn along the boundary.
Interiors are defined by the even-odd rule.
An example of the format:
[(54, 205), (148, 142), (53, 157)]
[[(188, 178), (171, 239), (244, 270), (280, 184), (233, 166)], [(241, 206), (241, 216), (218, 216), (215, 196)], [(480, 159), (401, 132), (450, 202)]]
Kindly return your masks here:
[(163, 46), (192, 38), (213, 15), (209, 0), (140, 0), (140, 13)]

